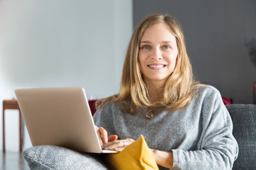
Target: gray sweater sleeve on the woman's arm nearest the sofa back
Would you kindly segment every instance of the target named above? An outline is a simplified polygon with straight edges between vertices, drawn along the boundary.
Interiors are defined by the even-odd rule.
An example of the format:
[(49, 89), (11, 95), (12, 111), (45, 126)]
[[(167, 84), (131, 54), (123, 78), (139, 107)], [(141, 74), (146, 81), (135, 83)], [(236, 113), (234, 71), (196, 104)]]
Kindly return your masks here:
[[(213, 102), (209, 102), (211, 100)], [(172, 170), (230, 170), (238, 156), (238, 143), (232, 135), (233, 124), (219, 92), (202, 103), (202, 135), (197, 150), (172, 149)]]

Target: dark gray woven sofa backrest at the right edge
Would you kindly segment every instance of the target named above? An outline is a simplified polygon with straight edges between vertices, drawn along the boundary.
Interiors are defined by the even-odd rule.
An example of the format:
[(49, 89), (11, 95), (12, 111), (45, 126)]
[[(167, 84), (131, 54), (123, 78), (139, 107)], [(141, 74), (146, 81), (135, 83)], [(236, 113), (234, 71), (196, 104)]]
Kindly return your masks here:
[(256, 105), (226, 105), (233, 121), (233, 135), (238, 142), (239, 154), (233, 170), (256, 169)]

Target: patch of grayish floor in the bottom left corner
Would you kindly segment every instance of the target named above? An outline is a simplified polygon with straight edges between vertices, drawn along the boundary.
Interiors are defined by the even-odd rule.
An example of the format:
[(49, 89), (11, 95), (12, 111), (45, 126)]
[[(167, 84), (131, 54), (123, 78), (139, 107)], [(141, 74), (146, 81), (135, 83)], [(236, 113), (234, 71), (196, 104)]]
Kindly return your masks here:
[(26, 160), (19, 152), (0, 151), (1, 170), (29, 170)]

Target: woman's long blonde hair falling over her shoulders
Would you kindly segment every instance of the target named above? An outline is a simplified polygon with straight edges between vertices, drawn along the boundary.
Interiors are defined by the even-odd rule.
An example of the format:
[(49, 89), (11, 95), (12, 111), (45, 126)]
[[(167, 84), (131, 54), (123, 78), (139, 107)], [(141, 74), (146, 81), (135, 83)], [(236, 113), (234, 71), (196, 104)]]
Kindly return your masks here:
[[(176, 66), (166, 80), (161, 101), (152, 102), (148, 97), (148, 90), (143, 81), (139, 66), (139, 45), (146, 29), (153, 24), (164, 23), (176, 37), (178, 55)], [(124, 112), (134, 114), (138, 108), (146, 108), (146, 117), (151, 119), (154, 110), (165, 109), (176, 111), (188, 104), (196, 86), (193, 79), (192, 67), (187, 55), (185, 39), (180, 25), (169, 16), (153, 14), (145, 17), (135, 28), (130, 39), (124, 58), (120, 91), (113, 96), (100, 99), (96, 102), (96, 109), (102, 108), (110, 100), (118, 102)]]

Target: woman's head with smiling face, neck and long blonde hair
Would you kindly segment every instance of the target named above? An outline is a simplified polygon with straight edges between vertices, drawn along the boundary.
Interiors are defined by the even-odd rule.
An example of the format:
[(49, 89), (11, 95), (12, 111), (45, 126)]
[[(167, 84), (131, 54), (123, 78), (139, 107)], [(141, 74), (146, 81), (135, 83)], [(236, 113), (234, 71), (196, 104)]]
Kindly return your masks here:
[[(151, 60), (157, 61), (147, 59), (149, 63), (143, 63), (148, 55), (154, 55)], [(162, 59), (155, 59), (157, 55)], [(153, 66), (154, 63), (166, 66), (157, 72), (148, 68), (161, 67)], [(158, 77), (158, 80), (149, 81), (149, 75)], [(122, 109), (131, 114), (137, 107), (147, 107), (146, 117), (151, 119), (155, 109), (165, 107), (175, 111), (186, 106), (197, 85), (179, 24), (171, 16), (152, 15), (144, 18), (133, 32), (124, 59), (119, 94), (99, 100), (96, 106), (101, 108), (112, 99), (121, 102)], [(127, 97), (132, 102), (127, 101)]]

